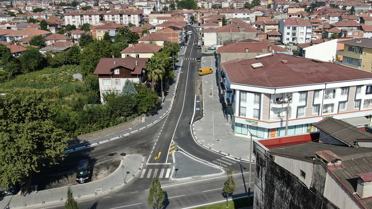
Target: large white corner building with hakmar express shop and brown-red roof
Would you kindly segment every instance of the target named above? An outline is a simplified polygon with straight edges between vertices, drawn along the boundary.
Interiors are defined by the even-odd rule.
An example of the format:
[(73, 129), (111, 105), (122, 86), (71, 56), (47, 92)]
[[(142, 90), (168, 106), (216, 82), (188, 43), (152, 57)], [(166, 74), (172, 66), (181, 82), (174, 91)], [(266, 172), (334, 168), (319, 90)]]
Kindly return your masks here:
[(313, 132), (326, 117), (372, 114), (371, 72), (282, 53), (261, 57), (222, 63), (221, 97), (235, 135), (285, 135), (287, 94), (288, 135)]

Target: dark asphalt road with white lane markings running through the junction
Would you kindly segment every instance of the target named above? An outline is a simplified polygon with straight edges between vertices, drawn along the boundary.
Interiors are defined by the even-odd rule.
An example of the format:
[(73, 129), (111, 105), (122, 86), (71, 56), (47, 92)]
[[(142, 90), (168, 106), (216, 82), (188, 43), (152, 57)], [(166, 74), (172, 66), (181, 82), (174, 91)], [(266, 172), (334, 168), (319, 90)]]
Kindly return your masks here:
[[(192, 29), (192, 36), (184, 57), (197, 58), (201, 50), (193, 43), (198, 42), (198, 33)], [(141, 154), (145, 156), (143, 169), (172, 169), (173, 159), (169, 154), (173, 143), (180, 149), (205, 162), (212, 162), (223, 157), (218, 153), (199, 146), (192, 137), (190, 121), (194, 110), (197, 67), (196, 60), (183, 60), (179, 86), (171, 111), (158, 123), (135, 134), (110, 141), (108, 143), (69, 153), (60, 166), (72, 166), (80, 159), (90, 158), (92, 164), (100, 164), (108, 160), (120, 159), (125, 154)], [(173, 148), (174, 150), (174, 148)], [(155, 160), (155, 157), (156, 158)], [(234, 197), (247, 196), (249, 164), (239, 162), (232, 165), (237, 190)], [(94, 169), (94, 168), (93, 168)], [(254, 170), (254, 165), (253, 169)], [(254, 174), (252, 173), (252, 179)], [(160, 179), (166, 191), (166, 208), (187, 208), (217, 201), (224, 201), (222, 195), (225, 175), (172, 181)], [(254, 182), (251, 180), (251, 182)], [(253, 185), (253, 184), (252, 184)], [(151, 178), (135, 177), (121, 189), (104, 195), (79, 199), (80, 208), (116, 209), (116, 208), (150, 208), (147, 203)], [(60, 203), (35, 208), (63, 208)]]

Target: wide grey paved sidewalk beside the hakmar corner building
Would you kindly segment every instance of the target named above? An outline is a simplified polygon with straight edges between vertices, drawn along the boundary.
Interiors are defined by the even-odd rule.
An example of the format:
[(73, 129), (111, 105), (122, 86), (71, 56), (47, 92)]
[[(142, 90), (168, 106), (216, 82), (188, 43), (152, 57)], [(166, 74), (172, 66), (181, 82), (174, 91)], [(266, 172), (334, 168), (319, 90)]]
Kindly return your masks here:
[[(250, 138), (235, 136), (231, 122), (228, 122), (222, 113), (222, 104), (218, 97), (215, 57), (204, 56), (201, 67), (211, 67), (213, 73), (202, 76), (203, 118), (192, 125), (196, 141), (217, 153), (249, 161)], [(212, 86), (212, 95), (210, 86)], [(255, 162), (254, 157), (252, 162)]]

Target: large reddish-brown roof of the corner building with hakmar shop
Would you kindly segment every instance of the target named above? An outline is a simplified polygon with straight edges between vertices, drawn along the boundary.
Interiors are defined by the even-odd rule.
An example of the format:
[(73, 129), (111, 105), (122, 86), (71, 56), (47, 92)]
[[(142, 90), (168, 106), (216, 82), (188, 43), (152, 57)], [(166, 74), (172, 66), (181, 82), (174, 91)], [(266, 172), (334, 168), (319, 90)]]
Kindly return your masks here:
[[(283, 63), (282, 60), (288, 62)], [(251, 64), (259, 62), (263, 63), (263, 67), (253, 69)], [(231, 63), (225, 65), (225, 72), (231, 83), (268, 88), (372, 78), (371, 72), (282, 53)]]

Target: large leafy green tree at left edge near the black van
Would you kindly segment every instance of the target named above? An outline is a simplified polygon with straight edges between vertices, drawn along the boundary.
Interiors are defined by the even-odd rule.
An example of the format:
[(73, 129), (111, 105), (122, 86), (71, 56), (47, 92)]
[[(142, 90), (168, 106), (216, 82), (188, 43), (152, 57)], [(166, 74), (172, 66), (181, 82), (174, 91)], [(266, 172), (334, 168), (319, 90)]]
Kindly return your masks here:
[(31, 192), (32, 173), (62, 160), (68, 138), (54, 123), (52, 106), (36, 92), (0, 97), (0, 112), (0, 184), (25, 182)]

